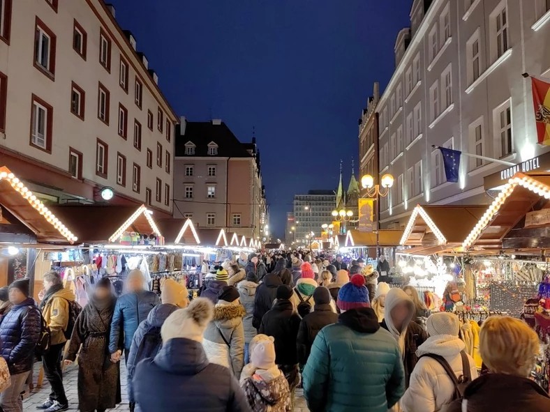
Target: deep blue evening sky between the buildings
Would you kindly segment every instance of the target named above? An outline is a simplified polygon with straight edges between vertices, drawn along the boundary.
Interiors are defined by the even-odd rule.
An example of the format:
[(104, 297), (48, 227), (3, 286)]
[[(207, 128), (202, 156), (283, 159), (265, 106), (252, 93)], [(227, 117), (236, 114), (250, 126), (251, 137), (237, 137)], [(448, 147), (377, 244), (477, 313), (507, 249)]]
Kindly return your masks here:
[(174, 110), (255, 126), (272, 229), (295, 193), (357, 174), (357, 119), (394, 69), (411, 0), (112, 0)]

